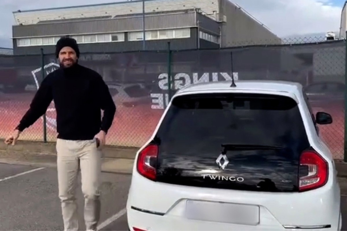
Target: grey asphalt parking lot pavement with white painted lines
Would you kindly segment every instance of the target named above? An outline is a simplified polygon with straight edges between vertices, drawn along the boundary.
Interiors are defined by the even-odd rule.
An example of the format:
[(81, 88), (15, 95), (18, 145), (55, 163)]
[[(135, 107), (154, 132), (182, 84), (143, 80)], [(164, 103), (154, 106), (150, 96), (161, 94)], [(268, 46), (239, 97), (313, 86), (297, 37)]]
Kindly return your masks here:
[[(126, 199), (130, 175), (102, 174), (102, 212), (98, 230), (127, 230)], [(77, 188), (80, 229), (83, 195)], [(0, 230), (64, 230), (57, 170), (0, 163)], [(347, 196), (342, 196), (342, 230), (347, 230)]]

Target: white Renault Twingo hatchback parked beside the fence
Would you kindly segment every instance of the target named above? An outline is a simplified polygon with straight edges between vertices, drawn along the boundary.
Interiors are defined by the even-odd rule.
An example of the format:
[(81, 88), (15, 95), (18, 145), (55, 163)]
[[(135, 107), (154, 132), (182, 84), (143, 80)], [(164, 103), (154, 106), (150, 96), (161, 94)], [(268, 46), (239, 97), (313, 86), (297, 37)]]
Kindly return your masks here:
[(341, 230), (332, 154), (303, 87), (210, 82), (179, 90), (137, 152), (129, 230)]

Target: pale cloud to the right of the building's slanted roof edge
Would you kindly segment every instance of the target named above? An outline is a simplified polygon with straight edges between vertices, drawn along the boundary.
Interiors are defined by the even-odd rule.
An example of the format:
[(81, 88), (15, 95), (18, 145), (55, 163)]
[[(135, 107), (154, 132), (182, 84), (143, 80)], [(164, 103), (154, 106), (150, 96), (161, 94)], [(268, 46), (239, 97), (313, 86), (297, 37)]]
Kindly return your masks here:
[(280, 37), (339, 31), (343, 4), (331, 0), (232, 0)]

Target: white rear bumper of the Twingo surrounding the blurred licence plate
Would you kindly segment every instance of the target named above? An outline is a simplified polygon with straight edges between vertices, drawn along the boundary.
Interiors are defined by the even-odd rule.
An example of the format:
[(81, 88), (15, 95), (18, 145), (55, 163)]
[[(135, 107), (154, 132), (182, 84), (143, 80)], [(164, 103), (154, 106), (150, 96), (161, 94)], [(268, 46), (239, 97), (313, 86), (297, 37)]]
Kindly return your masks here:
[[(316, 190), (266, 193), (170, 185), (147, 180), (134, 171), (127, 200), (128, 225), (130, 230), (302, 230), (293, 226), (341, 230), (340, 188), (336, 178), (330, 177), (325, 186)], [(260, 222), (240, 225), (188, 220), (187, 199), (257, 205)], [(324, 225), (330, 227), (307, 228)]]

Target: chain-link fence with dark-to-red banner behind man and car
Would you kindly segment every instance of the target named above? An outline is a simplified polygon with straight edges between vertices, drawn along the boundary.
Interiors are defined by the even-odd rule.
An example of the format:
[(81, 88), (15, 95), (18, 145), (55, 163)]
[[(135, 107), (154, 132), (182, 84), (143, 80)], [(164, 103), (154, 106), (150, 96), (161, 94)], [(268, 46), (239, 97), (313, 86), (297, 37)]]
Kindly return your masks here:
[[(176, 90), (198, 82), (230, 80), (233, 72), (238, 80), (301, 83), (313, 112), (323, 110), (333, 116), (332, 124), (319, 126), (320, 135), (335, 159), (343, 159), (346, 42), (298, 38), (283, 43), (170, 52), (82, 53), (79, 62), (103, 76), (115, 100), (117, 112), (107, 136), (109, 145), (143, 145)], [(28, 109), (43, 78), (42, 66), (45, 75), (59, 68), (53, 54), (0, 57), (0, 138), (10, 134)], [(21, 134), (21, 139), (55, 141), (53, 102), (45, 120), (46, 126), (40, 118)]]

